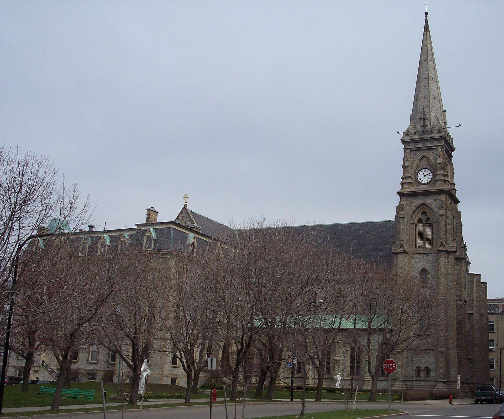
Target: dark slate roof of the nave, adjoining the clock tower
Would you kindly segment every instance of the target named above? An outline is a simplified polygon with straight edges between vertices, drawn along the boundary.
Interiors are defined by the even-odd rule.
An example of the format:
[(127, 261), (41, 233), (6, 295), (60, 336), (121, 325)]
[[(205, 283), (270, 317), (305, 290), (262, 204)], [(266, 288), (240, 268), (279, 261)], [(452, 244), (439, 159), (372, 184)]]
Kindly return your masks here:
[(394, 220), (361, 223), (294, 226), (293, 229), (317, 229), (324, 244), (332, 244), (342, 253), (370, 262), (393, 264)]

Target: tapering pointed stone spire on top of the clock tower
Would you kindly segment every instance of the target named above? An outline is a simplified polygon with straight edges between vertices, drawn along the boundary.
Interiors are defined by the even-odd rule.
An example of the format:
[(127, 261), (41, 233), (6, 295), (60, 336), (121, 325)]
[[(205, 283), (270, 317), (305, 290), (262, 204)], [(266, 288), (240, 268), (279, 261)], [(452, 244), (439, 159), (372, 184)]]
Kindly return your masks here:
[(443, 109), (436, 62), (430, 38), (429, 22), (425, 12), (422, 49), (418, 63), (415, 97), (407, 131), (434, 130), (446, 127), (446, 113)]

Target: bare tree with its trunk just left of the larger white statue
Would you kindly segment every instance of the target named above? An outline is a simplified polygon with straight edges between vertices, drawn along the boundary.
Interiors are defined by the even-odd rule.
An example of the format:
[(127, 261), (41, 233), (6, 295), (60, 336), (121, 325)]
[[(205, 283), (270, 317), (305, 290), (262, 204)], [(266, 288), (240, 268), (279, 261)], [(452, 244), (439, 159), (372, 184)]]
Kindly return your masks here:
[(93, 320), (93, 338), (116, 353), (131, 371), (129, 404), (137, 404), (140, 372), (166, 346), (164, 325), (171, 275), (168, 259), (128, 248), (115, 249), (122, 265), (110, 298)]

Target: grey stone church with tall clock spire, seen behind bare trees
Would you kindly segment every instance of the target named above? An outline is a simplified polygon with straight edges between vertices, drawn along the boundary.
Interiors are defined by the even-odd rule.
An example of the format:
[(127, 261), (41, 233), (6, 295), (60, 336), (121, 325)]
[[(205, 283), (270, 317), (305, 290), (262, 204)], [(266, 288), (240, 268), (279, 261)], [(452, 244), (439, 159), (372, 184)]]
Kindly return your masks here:
[[(413, 109), (401, 142), (403, 175), (394, 220), (295, 228), (317, 228), (342, 252), (386, 263), (403, 276), (414, 278), (419, 287), (434, 290), (446, 305), (445, 321), (439, 324), (438, 337), (442, 343), (421, 353), (397, 356), (397, 385), (401, 386), (400, 380), (404, 378), (407, 388), (454, 391), (460, 375), (462, 389), (467, 390), (474, 384), (489, 382), (487, 291), (481, 275), (469, 272), (454, 180), (455, 147), (441, 99), (427, 13)], [(145, 250), (159, 254), (197, 255), (219, 237), (232, 233), (224, 224), (192, 211), (187, 203), (173, 221), (158, 222), (157, 217), (157, 211), (150, 207), (146, 222), (135, 227), (93, 231), (90, 226), (89, 231), (74, 233), (80, 241), (79, 254), (99, 254), (103, 246), (120, 248), (125, 241), (137, 240)], [(344, 377), (348, 375), (350, 354), (348, 347), (335, 348), (327, 372), (328, 386), (333, 385), (338, 371)], [(75, 369), (87, 374), (90, 381), (98, 380), (107, 370), (120, 374), (116, 357), (104, 354), (101, 358), (94, 346), (88, 353), (76, 354), (75, 362)], [(367, 370), (365, 362), (359, 356), (363, 376)], [(353, 363), (357, 365), (356, 358)], [(52, 362), (47, 355), (45, 365), (48, 364)], [(9, 374), (18, 373), (21, 367), (21, 361), (11, 356)], [(165, 356), (152, 370), (151, 382), (185, 385), (185, 375), (176, 357)], [(41, 377), (44, 374), (42, 368)]]

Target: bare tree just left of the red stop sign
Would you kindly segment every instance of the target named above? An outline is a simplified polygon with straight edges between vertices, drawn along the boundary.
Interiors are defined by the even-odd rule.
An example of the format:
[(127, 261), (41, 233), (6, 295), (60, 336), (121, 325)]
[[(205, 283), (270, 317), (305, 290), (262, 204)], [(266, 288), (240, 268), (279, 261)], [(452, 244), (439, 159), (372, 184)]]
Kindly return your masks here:
[[(356, 322), (365, 335), (363, 348), (374, 401), (382, 364), (391, 355), (435, 347), (435, 330), (443, 308), (429, 287), (402, 277), (388, 266), (360, 262), (355, 267), (359, 288)], [(427, 344), (427, 345), (426, 345)]]

